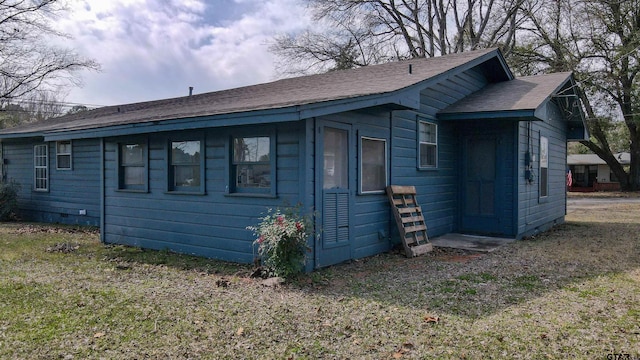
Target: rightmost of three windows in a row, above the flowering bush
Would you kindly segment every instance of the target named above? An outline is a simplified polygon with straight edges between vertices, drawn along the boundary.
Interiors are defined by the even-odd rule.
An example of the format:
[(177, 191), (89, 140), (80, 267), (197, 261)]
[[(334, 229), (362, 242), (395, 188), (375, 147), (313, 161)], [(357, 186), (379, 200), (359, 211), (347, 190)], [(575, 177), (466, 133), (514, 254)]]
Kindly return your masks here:
[(232, 185), (236, 192), (271, 191), (271, 145), (268, 136), (233, 138)]

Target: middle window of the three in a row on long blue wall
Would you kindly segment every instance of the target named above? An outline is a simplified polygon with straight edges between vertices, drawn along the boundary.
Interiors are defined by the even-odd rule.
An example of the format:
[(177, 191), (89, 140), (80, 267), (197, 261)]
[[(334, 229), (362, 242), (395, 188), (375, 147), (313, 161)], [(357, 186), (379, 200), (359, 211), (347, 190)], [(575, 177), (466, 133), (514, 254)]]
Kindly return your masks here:
[(171, 142), (169, 191), (204, 191), (202, 143), (199, 140)]

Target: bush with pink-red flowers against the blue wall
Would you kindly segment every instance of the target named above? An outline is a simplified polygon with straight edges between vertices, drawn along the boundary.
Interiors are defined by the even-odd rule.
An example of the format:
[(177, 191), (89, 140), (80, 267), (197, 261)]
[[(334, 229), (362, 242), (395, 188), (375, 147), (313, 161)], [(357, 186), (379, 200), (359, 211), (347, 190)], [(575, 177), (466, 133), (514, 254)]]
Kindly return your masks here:
[(262, 265), (275, 276), (288, 278), (304, 270), (313, 226), (297, 210), (269, 209), (258, 226), (247, 227), (256, 236), (253, 244), (258, 247)]

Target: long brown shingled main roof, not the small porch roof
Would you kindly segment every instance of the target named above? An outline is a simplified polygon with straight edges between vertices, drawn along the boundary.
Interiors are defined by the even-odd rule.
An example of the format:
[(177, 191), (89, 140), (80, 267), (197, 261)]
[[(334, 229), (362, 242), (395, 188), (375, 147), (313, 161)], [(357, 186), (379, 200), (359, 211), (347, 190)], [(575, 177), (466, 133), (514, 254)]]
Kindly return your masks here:
[[(198, 118), (268, 109), (301, 107), (344, 99), (390, 94), (474, 61), (500, 58), (485, 49), (442, 57), (412, 59), (352, 70), (278, 80), (192, 96), (115, 105), (0, 130), (0, 137), (46, 134), (110, 126)], [(475, 64), (475, 63), (474, 63)], [(497, 76), (512, 75), (506, 66)]]

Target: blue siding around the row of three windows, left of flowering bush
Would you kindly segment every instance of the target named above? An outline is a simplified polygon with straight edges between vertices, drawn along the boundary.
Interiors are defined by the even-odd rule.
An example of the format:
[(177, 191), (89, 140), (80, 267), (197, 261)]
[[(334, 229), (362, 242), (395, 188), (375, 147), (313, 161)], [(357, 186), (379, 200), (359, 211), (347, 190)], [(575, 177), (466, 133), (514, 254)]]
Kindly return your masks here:
[[(274, 133), (277, 196), (229, 194), (230, 142), (233, 136)], [(116, 148), (127, 138), (105, 142), (104, 240), (153, 249), (195, 254), (237, 262), (252, 262), (253, 234), (269, 208), (301, 201), (301, 154), (304, 123), (274, 127), (209, 129), (205, 141), (205, 193), (167, 192), (167, 144), (176, 137), (202, 138), (202, 132), (156, 133), (148, 136), (149, 191), (119, 191)], [(274, 156), (274, 154), (272, 154)]]

